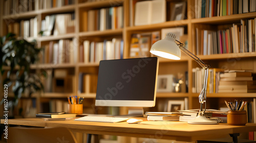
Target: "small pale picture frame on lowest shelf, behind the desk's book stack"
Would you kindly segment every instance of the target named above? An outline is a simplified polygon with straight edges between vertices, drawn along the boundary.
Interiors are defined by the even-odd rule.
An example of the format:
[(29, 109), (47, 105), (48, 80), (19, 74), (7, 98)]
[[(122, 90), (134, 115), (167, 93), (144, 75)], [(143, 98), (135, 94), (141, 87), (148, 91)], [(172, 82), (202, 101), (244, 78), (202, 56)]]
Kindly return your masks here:
[(185, 102), (183, 100), (169, 100), (167, 112), (178, 112), (178, 110), (185, 109)]

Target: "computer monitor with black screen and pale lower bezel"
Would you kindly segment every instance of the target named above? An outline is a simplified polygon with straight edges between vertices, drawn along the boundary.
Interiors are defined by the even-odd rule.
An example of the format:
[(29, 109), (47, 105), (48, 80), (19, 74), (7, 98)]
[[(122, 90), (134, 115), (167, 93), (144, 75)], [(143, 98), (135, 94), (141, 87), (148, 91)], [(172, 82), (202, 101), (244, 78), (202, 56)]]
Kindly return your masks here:
[(154, 107), (157, 75), (157, 57), (100, 61), (95, 105)]

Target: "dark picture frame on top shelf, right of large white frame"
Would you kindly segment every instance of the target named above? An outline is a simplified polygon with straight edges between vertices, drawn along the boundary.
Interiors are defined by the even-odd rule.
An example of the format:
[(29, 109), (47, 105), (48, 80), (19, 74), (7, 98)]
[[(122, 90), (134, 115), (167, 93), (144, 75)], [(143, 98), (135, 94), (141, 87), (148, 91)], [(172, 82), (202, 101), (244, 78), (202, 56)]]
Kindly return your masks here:
[(186, 11), (186, 2), (171, 4), (170, 21), (183, 20)]

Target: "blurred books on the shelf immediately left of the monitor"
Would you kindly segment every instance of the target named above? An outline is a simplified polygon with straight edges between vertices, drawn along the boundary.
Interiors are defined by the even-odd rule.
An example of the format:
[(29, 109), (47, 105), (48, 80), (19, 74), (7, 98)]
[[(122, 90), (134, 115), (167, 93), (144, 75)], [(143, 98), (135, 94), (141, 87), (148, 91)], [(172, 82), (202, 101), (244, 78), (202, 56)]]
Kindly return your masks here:
[(78, 93), (96, 93), (98, 75), (79, 73)]

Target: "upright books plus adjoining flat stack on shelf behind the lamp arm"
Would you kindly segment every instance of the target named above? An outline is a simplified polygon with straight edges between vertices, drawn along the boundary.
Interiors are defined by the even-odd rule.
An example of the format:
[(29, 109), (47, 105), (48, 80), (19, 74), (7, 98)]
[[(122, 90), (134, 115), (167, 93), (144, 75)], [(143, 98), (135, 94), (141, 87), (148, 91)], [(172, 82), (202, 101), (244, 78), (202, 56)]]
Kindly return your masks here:
[[(203, 89), (205, 69), (193, 68), (192, 73), (192, 92), (200, 93)], [(251, 71), (209, 68), (207, 92), (256, 92), (256, 83), (252, 78)]]

